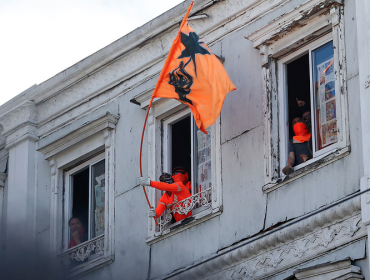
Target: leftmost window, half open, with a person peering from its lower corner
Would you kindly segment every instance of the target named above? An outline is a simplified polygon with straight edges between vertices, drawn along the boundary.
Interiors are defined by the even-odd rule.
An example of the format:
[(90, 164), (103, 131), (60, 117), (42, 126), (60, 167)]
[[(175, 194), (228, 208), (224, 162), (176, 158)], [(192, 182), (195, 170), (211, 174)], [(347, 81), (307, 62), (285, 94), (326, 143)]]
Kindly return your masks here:
[[(68, 224), (71, 217), (79, 218), (87, 231), (88, 240), (104, 234), (104, 155), (95, 157), (66, 172), (65, 182), (66, 205), (68, 205), (65, 224)], [(69, 227), (66, 228), (65, 236), (69, 241), (71, 238)], [(68, 245), (68, 242), (65, 244)]]

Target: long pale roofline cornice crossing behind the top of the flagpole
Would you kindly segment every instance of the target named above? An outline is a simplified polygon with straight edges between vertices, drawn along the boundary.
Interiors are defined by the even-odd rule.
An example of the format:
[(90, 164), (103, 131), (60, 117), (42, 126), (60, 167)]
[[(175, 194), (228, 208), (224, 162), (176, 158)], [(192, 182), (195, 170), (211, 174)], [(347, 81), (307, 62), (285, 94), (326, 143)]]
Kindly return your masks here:
[[(191, 25), (201, 36), (215, 32), (207, 38), (210, 42), (224, 36), (220, 32), (228, 34), (284, 2), (287, 0), (199, 0), (192, 14), (202, 11), (208, 17), (193, 20)], [(157, 75), (189, 3), (182, 3), (153, 20), (158, 25), (152, 21), (142, 26), (20, 97), (35, 101), (39, 127), (112, 88), (119, 87), (117, 94), (123, 94), (139, 80)], [(137, 75), (139, 80), (132, 79)], [(6, 109), (10, 103), (0, 109)]]

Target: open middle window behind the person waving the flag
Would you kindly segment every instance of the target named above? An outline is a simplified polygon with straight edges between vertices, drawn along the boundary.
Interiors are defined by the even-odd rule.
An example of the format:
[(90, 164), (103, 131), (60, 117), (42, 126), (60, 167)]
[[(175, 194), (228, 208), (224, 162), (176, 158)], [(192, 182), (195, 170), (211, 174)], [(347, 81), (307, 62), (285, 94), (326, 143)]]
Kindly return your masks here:
[[(168, 209), (160, 218), (157, 231), (163, 233), (180, 223), (172, 218), (174, 211), (193, 216), (210, 209), (212, 205), (212, 128), (208, 134), (201, 132), (189, 109), (171, 115), (162, 121), (163, 128), (163, 171), (171, 173), (173, 168), (182, 166), (189, 174), (191, 181), (191, 198), (179, 202), (172, 211)], [(161, 195), (163, 192), (161, 192)]]

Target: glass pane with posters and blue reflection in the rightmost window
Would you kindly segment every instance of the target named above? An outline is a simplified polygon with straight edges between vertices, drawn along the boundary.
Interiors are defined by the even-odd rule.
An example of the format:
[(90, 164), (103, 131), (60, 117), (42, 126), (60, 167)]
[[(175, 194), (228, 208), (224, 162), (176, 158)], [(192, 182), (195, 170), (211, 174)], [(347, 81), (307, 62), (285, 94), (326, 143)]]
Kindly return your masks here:
[(312, 52), (316, 151), (337, 142), (333, 42)]

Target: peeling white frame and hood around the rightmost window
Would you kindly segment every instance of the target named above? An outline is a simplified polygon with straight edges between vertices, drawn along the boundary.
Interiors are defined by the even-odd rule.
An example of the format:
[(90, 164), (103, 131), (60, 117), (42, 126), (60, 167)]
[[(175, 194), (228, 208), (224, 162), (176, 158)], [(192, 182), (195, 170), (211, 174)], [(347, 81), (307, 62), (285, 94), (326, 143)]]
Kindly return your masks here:
[[(269, 193), (350, 153), (348, 127), (348, 95), (346, 85), (346, 53), (344, 35), (344, 7), (342, 0), (307, 1), (289, 13), (246, 36), (260, 50), (264, 108), (264, 163), (265, 185)], [(315, 13), (310, 11), (315, 10)], [(305, 14), (307, 16), (302, 17)], [(326, 37), (327, 36), (327, 37)], [(337, 107), (336, 148), (323, 150), (315, 158), (299, 165), (285, 176), (282, 169), (287, 160), (287, 123), (284, 104), (286, 92), (284, 69), (281, 62), (297, 57), (309, 46), (323, 44), (324, 38), (333, 41)], [(330, 39), (329, 39), (330, 38)], [(310, 75), (312, 69), (310, 69)], [(312, 80), (312, 79), (311, 79)], [(312, 84), (310, 85), (312, 86)], [(283, 112), (282, 112), (283, 111)], [(329, 151), (328, 151), (329, 150)]]

